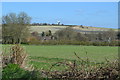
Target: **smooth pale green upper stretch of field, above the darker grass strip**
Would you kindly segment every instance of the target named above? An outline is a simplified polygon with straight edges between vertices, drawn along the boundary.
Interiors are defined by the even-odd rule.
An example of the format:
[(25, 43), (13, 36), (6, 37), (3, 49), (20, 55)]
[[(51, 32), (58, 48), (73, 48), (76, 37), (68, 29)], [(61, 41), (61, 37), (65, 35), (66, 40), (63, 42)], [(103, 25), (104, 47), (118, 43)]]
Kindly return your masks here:
[[(114, 59), (118, 55), (118, 47), (108, 46), (25, 46), (30, 56), (41, 56), (48, 58), (76, 59), (74, 52), (81, 58), (89, 57), (91, 60), (104, 61), (104, 58)], [(86, 54), (87, 52), (87, 54)]]

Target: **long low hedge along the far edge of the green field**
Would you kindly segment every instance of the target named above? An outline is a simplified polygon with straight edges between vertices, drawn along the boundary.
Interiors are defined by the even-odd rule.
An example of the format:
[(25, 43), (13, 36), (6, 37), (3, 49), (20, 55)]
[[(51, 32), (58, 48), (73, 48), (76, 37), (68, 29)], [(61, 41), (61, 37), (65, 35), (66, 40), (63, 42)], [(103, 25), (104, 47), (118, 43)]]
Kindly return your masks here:
[(93, 45), (93, 46), (120, 46), (118, 41), (112, 42), (90, 42), (90, 41), (71, 41), (71, 40), (49, 40), (49, 41), (33, 41), (28, 44), (32, 45)]

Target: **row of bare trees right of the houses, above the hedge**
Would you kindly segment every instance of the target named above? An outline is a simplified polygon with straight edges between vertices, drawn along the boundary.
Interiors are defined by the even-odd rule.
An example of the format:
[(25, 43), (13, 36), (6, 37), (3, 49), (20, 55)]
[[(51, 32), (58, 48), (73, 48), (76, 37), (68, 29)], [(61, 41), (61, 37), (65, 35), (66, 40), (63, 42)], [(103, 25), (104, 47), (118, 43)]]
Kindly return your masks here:
[(76, 40), (76, 41), (92, 41), (92, 42), (111, 42), (120, 39), (120, 32), (110, 29), (99, 33), (82, 34), (76, 32), (71, 27), (59, 30), (55, 33), (58, 40)]

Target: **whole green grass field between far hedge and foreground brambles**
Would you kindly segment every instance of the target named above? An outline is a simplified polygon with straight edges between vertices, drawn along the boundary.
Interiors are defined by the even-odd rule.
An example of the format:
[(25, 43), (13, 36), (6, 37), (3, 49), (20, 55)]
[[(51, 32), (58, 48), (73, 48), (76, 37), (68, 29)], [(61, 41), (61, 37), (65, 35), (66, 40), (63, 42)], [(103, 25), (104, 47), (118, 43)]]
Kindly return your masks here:
[[(3, 47), (7, 47), (4, 45)], [(48, 69), (55, 62), (78, 60), (77, 53), (82, 59), (104, 62), (105, 58), (114, 60), (118, 57), (118, 47), (109, 46), (76, 46), (76, 45), (23, 45), (30, 56), (31, 62), (37, 68)], [(86, 54), (87, 52), (87, 54)]]

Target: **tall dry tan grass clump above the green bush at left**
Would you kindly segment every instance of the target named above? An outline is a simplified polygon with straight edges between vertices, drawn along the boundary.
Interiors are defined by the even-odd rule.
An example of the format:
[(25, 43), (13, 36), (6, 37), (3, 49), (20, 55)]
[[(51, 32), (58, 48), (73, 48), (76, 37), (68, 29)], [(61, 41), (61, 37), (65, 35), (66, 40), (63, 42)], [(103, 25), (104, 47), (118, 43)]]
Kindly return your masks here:
[(18, 64), (21, 68), (24, 68), (26, 70), (33, 70), (33, 67), (31, 65), (28, 65), (28, 55), (22, 46), (19, 44), (12, 46), (10, 48), (9, 54), (10, 55), (3, 56), (2, 58), (3, 67), (11, 63)]

